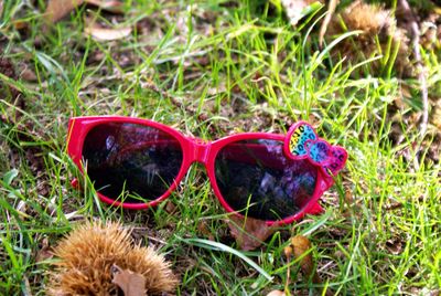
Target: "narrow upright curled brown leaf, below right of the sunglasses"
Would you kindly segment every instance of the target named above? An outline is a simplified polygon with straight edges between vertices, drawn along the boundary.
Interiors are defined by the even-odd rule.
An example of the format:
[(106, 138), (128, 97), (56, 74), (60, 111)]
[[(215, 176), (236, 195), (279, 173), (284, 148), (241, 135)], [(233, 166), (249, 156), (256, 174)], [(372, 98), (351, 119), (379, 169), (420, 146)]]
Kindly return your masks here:
[(321, 283), (319, 274), (316, 273), (316, 271), (314, 268), (314, 261), (312, 258), (312, 253), (311, 253), (312, 245), (311, 245), (310, 240), (308, 240), (308, 237), (305, 237), (303, 235), (297, 235), (291, 239), (291, 246), (292, 246), (292, 252), (294, 254), (294, 257), (295, 258), (301, 257), (300, 266), (302, 268), (303, 275), (306, 278), (312, 277), (312, 282), (314, 284)]

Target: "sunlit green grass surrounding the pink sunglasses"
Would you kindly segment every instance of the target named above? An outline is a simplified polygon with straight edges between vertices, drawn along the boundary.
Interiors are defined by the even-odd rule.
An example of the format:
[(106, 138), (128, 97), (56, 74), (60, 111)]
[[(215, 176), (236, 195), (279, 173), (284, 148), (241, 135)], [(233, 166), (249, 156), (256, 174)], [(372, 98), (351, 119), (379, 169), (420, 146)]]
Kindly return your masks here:
[[(44, 295), (51, 265), (36, 261), (43, 242), (54, 246), (77, 221), (94, 218), (136, 226), (144, 244), (159, 247), (181, 278), (178, 295), (283, 289), (283, 247), (301, 233), (314, 245), (320, 287), (338, 295), (439, 290), (441, 137), (434, 127), (420, 137), (418, 91), (396, 107), (402, 85), (415, 87), (415, 81), (394, 71), (378, 76), (369, 63), (347, 67), (330, 57), (332, 43), (318, 50), (314, 33), (308, 35), (314, 20), (295, 30), (265, 1), (195, 1), (191, 8), (126, 1), (118, 21), (137, 30), (118, 42), (83, 33), (84, 14), (98, 13), (84, 7), (43, 33), (43, 15), (33, 9), (42, 11), (44, 1), (25, 2), (6, 1), (0, 19), (3, 57), (18, 74), (26, 65), (37, 77), (30, 83), (0, 74), (0, 294)], [(19, 32), (10, 20), (29, 28)], [(423, 54), (430, 87), (440, 89), (439, 52)], [(324, 216), (280, 228), (262, 247), (238, 255), (201, 166), (170, 198), (173, 214), (165, 203), (122, 211), (100, 203), (90, 186), (71, 187), (82, 177), (66, 155), (68, 118), (107, 114), (151, 118), (203, 139), (284, 133), (304, 119), (349, 158), (323, 197)], [(201, 241), (207, 237), (200, 221), (216, 245)], [(316, 295), (297, 262), (290, 266), (291, 292)]]

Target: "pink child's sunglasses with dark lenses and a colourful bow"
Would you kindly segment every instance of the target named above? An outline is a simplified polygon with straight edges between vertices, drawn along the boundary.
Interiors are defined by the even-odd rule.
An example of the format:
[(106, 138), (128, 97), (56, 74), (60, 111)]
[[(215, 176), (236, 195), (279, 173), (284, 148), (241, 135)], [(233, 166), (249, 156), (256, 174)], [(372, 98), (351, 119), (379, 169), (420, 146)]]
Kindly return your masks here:
[(121, 116), (71, 118), (67, 151), (104, 202), (135, 210), (165, 200), (191, 165), (201, 162), (227, 212), (268, 225), (321, 212), (318, 201), (347, 159), (303, 121), (288, 135), (244, 133), (205, 141)]

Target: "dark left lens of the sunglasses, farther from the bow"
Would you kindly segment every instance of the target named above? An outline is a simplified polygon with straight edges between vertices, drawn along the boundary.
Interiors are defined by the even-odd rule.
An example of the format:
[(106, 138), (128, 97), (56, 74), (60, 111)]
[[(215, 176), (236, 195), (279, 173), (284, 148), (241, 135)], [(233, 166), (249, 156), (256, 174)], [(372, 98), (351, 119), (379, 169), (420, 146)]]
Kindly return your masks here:
[(161, 197), (182, 165), (182, 148), (171, 135), (153, 127), (111, 123), (94, 127), (86, 136), (83, 158), (97, 191), (118, 199), (122, 191), (146, 202)]

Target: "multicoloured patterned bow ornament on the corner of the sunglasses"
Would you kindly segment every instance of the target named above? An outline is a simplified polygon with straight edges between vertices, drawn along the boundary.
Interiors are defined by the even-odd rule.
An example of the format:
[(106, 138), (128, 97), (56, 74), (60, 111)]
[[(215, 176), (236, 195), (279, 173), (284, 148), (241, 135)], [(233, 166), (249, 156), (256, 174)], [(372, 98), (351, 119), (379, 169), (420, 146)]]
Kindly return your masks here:
[(284, 152), (292, 159), (310, 159), (326, 176), (333, 177), (343, 169), (347, 152), (319, 138), (311, 125), (300, 121), (291, 126), (284, 140)]

